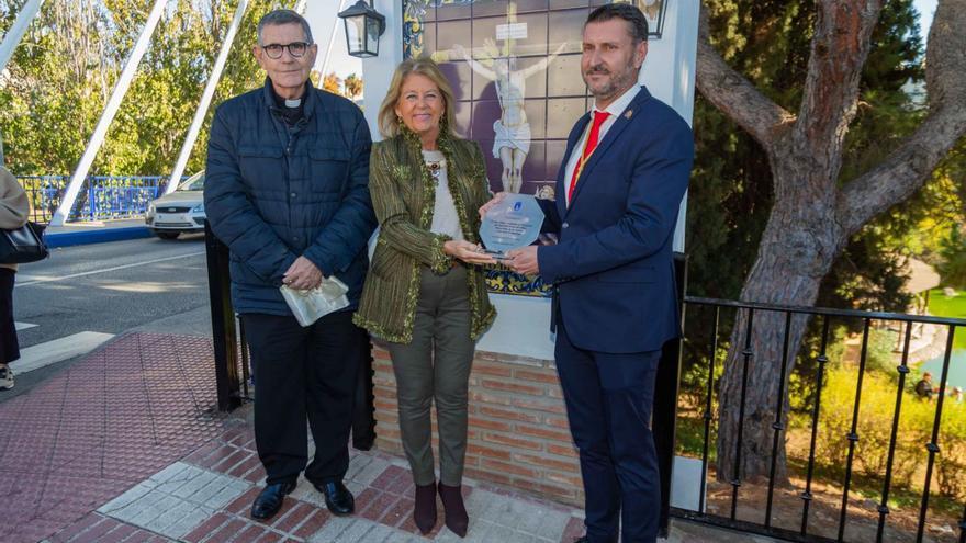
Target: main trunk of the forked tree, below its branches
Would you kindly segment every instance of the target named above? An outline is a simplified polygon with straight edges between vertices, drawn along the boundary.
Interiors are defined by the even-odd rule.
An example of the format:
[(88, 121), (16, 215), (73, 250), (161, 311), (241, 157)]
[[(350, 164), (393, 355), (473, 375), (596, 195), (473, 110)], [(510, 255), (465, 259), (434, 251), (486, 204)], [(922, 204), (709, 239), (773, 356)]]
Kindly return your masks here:
[[(799, 194), (777, 194), (759, 254), (742, 290), (744, 302), (811, 306), (822, 278), (843, 246), (844, 236), (833, 218), (833, 199), (816, 189), (827, 186), (828, 178), (821, 179), (815, 170), (795, 169), (794, 162), (786, 161), (784, 169), (775, 168), (775, 174), (797, 182), (776, 185), (790, 186)], [(776, 482), (784, 483), (788, 377), (808, 319), (799, 315), (786, 320), (785, 314), (776, 312), (753, 313), (750, 341), (749, 312), (740, 312), (735, 319), (719, 386), (718, 478), (731, 482), (767, 477), (774, 451)], [(776, 425), (780, 426), (777, 445)]]

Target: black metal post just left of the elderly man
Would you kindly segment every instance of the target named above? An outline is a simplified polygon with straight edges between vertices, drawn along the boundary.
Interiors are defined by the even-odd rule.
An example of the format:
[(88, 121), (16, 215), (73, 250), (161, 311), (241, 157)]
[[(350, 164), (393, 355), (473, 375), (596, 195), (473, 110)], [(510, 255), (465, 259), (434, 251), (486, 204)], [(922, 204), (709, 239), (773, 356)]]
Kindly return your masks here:
[(231, 411), (242, 405), (242, 384), (238, 376), (238, 336), (228, 275), (228, 248), (215, 237), (207, 220), (204, 222), (204, 246), (207, 254), (207, 290), (211, 297), (218, 410)]

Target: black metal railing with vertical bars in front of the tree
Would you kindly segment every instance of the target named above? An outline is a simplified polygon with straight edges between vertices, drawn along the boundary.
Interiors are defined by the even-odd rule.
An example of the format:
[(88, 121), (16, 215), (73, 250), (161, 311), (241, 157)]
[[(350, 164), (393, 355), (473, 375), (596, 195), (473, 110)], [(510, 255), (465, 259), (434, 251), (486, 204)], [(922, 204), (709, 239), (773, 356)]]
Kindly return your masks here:
[[(928, 520), (930, 514), (934, 512), (930, 508), (930, 500), (935, 498), (931, 486), (933, 483), (934, 470), (936, 467), (936, 455), (940, 454), (940, 443), (943, 439), (942, 422), (944, 400), (947, 399), (947, 392), (951, 388), (947, 380), (950, 377), (950, 366), (954, 350), (954, 337), (957, 333), (957, 329), (959, 333), (966, 333), (966, 319), (891, 313), (823, 309), (816, 307), (777, 306), (699, 297), (686, 297), (685, 306), (688, 310), (688, 321), (685, 328), (685, 343), (687, 347), (684, 349), (682, 366), (690, 372), (692, 381), (682, 386), (689, 387), (688, 391), (683, 391), (683, 394), (689, 394), (688, 397), (692, 398), (689, 400), (692, 405), (686, 407), (689, 408), (692, 412), (700, 412), (699, 417), (694, 418), (695, 423), (693, 425), (693, 434), (696, 437), (699, 435), (701, 444), (699, 448), (693, 446), (689, 453), (695, 456), (700, 456), (701, 480), (699, 483), (700, 494), (697, 505), (698, 510), (673, 509), (671, 512), (672, 516), (788, 541), (865, 542), (874, 540), (881, 542), (897, 541), (895, 539), (897, 533), (902, 536), (908, 536), (908, 541), (921, 542), (924, 540)], [(784, 318), (776, 319), (776, 316)], [(775, 341), (775, 335), (764, 338), (762, 337), (762, 333), (759, 333), (759, 324), (756, 320), (766, 319), (771, 319), (773, 324), (777, 323), (777, 326), (783, 326), (782, 323), (784, 321), (783, 330), (779, 336), (780, 342)], [(942, 371), (935, 401), (930, 400), (929, 404), (931, 406), (934, 405), (934, 412), (932, 414), (931, 432), (929, 432), (928, 441), (923, 443), (924, 475), (921, 479), (922, 487), (921, 489), (918, 489), (914, 488), (913, 485), (907, 485), (907, 487), (902, 488), (903, 495), (906, 495), (907, 498), (910, 494), (914, 495), (916, 491), (920, 493), (918, 499), (918, 514), (914, 514), (914, 511), (912, 510), (914, 508), (912, 507), (908, 507), (903, 511), (907, 518), (916, 519), (916, 529), (914, 531), (909, 531), (907, 529), (903, 532), (901, 527), (891, 527), (892, 531), (888, 532), (887, 518), (890, 513), (897, 512), (890, 508), (890, 500), (892, 498), (890, 493), (897, 489), (894, 480), (894, 466), (897, 462), (897, 441), (900, 435), (900, 415), (903, 409), (903, 399), (911, 395), (911, 392), (908, 389), (909, 383), (907, 382), (907, 376), (911, 372), (909, 359), (910, 346), (912, 344), (912, 330), (913, 327), (921, 325), (932, 325), (936, 329), (944, 329), (946, 332), (941, 357)], [(796, 337), (796, 326), (798, 326), (798, 330), (805, 330), (800, 331), (798, 337)], [(807, 329), (806, 326), (808, 326)], [(845, 363), (843, 360), (830, 360), (829, 351), (830, 348), (833, 347), (833, 342), (835, 342), (832, 333), (833, 326), (851, 327), (847, 329), (850, 329), (852, 333), (861, 337), (857, 363), (842, 365)], [(853, 536), (853, 539), (849, 539), (850, 533), (846, 533), (846, 525), (849, 525), (850, 520), (852, 520), (852, 522), (858, 522), (850, 516), (850, 505), (855, 506), (856, 501), (853, 497), (854, 493), (853, 496), (850, 496), (850, 493), (855, 490), (853, 486), (856, 484), (856, 474), (854, 472), (856, 446), (860, 443), (860, 440), (863, 439), (863, 435), (860, 434), (860, 422), (862, 421), (861, 417), (863, 412), (860, 407), (863, 406), (863, 389), (864, 386), (872, 386), (864, 383), (867, 374), (870, 372), (869, 367), (867, 367), (870, 358), (870, 335), (873, 333), (873, 330), (883, 332), (887, 326), (892, 329), (898, 328), (898, 337), (901, 338), (901, 349), (898, 349), (897, 352), (892, 354), (892, 357), (897, 359), (896, 373), (895, 375), (888, 375), (889, 378), (895, 378), (895, 382), (890, 381), (890, 383), (894, 383), (890, 386), (895, 386), (895, 405), (892, 406), (891, 426), (888, 431), (888, 453), (886, 455), (885, 470), (879, 474), (869, 475), (868, 473), (865, 473), (862, 479), (863, 496), (868, 497), (872, 494), (870, 489), (876, 489), (875, 494), (877, 496), (873, 504), (877, 502), (877, 506), (875, 507), (877, 522), (875, 522), (876, 525), (872, 527), (868, 525), (868, 521), (864, 521), (863, 527), (856, 527), (854, 530), (851, 530), (851, 536)], [(708, 330), (710, 330), (710, 333), (708, 333)], [(798, 405), (798, 412), (796, 414), (796, 420), (798, 420), (796, 435), (799, 438), (797, 449), (799, 451), (805, 449), (802, 441), (807, 440), (807, 453), (797, 459), (804, 461), (804, 466), (799, 465), (796, 472), (800, 489), (800, 493), (798, 493), (798, 498), (801, 500), (800, 512), (789, 513), (788, 507), (785, 507), (783, 511), (785, 513), (785, 525), (776, 525), (773, 521), (776, 508), (776, 484), (782, 483), (778, 477), (776, 477), (776, 471), (779, 457), (782, 457), (780, 452), (784, 452), (784, 449), (782, 448), (783, 442), (788, 442), (789, 439), (788, 420), (791, 416), (789, 412), (789, 404), (786, 401), (786, 384), (789, 381), (789, 375), (786, 373), (786, 370), (793, 371), (795, 369), (795, 364), (791, 362), (795, 361), (797, 355), (795, 352), (791, 352), (791, 349), (795, 348), (794, 346), (798, 343), (798, 339), (801, 337), (807, 337), (806, 339), (810, 338), (813, 342), (810, 343), (810, 348), (804, 348), (804, 354), (798, 357), (801, 360), (810, 359), (809, 362), (811, 362), (806, 364), (808, 371), (800, 372), (798, 380), (811, 383), (809, 388), (812, 392), (813, 397), (810, 398), (810, 405), (804, 405), (806, 401), (800, 403), (800, 405)], [(767, 341), (773, 341), (774, 343), (770, 346), (768, 351), (775, 358), (771, 362), (756, 360), (756, 357), (759, 355), (759, 353), (755, 352), (756, 348), (765, 350), (763, 343)], [(727, 344), (722, 347), (723, 343)], [(730, 358), (722, 357), (724, 347), (731, 347), (731, 343), (737, 343), (740, 348), (738, 348), (737, 352), (732, 352)], [(841, 343), (841, 338), (839, 343)], [(733, 347), (732, 350), (734, 350)], [(724, 361), (730, 360), (730, 362), (724, 362), (722, 359)], [(706, 498), (708, 485), (716, 483), (712, 477), (709, 477), (708, 473), (712, 464), (712, 433), (718, 420), (715, 405), (717, 403), (716, 399), (719, 398), (716, 398), (715, 395), (718, 393), (718, 387), (716, 385), (720, 384), (720, 382), (717, 382), (716, 370), (720, 370), (721, 364), (723, 363), (730, 363), (731, 367), (729, 367), (729, 370), (731, 372), (737, 371), (738, 378), (741, 380), (737, 419), (738, 426), (734, 433), (735, 439), (733, 440), (733, 443), (735, 443), (732, 459), (733, 465), (729, 462), (727, 466), (728, 470), (722, 466), (720, 472), (717, 466), (715, 466), (717, 478), (724, 479), (720, 480), (718, 484), (721, 491), (716, 494), (716, 509), (719, 511), (729, 511), (727, 514), (708, 512), (708, 500)], [(775, 416), (774, 422), (771, 425), (771, 430), (774, 433), (771, 440), (771, 464), (767, 484), (763, 484), (759, 480), (756, 482), (756, 489), (759, 491), (750, 493), (750, 499), (759, 500), (757, 502), (742, 504), (742, 488), (750, 484), (750, 482), (742, 480), (742, 453), (744, 449), (743, 440), (746, 439), (744, 433), (748, 425), (748, 420), (745, 419), (746, 409), (753, 407), (746, 405), (746, 401), (749, 400), (748, 387), (750, 383), (750, 366), (753, 363), (780, 363), (780, 367), (776, 369), (777, 371), (774, 372), (778, 378), (776, 386), (778, 391), (777, 397), (771, 398), (770, 400), (774, 401)], [(828, 459), (819, 457), (819, 454), (817, 453), (817, 442), (819, 440), (818, 430), (820, 426), (829, 423), (828, 421), (822, 420), (822, 394), (828, 383), (827, 377), (829, 375), (830, 364), (832, 363), (836, 364), (836, 367), (844, 367), (850, 372), (854, 370), (854, 399), (851, 406), (851, 417), (847, 418), (847, 426), (833, 429), (835, 432), (839, 432), (838, 434), (843, 441), (842, 446), (847, 446), (844, 465), (838, 466), (841, 471), (824, 468), (822, 476), (819, 477), (817, 471), (818, 464), (828, 464)], [(733, 375), (734, 374), (732, 373), (732, 378)], [(757, 383), (757, 385), (761, 386), (761, 383)], [(866, 409), (868, 408), (866, 407)], [(966, 414), (966, 411), (953, 411), (953, 414), (963, 415)], [(700, 419), (699, 422), (697, 421), (698, 418)], [(772, 419), (768, 418), (768, 420)], [(678, 419), (678, 423), (681, 423), (681, 419)], [(802, 428), (804, 425), (807, 426), (807, 428)], [(681, 430), (678, 430), (678, 433)], [(845, 443), (847, 443), (847, 445)], [(921, 474), (922, 471), (923, 470), (920, 466), (917, 470), (917, 475)], [(721, 476), (720, 474), (722, 472), (726, 473), (727, 476)], [(966, 477), (966, 473), (963, 474), (963, 477)], [(804, 484), (800, 482), (801, 478), (804, 478)], [(841, 486), (838, 490), (841, 494), (841, 501), (836, 511), (838, 514), (830, 516), (828, 514), (828, 511), (824, 514), (827, 519), (829, 517), (834, 519), (833, 527), (816, 527), (815, 524), (818, 524), (819, 522), (815, 521), (815, 519), (810, 519), (810, 514), (815, 512), (813, 508), (816, 507), (816, 490), (813, 484), (818, 482), (820, 482), (824, 488), (823, 497), (825, 498), (825, 509), (829, 509), (828, 498), (831, 494), (828, 488), (830, 485), (834, 487)], [(728, 488), (728, 486), (730, 486), (730, 493), (726, 494), (723, 489)], [(793, 484), (793, 486), (795, 485)], [(765, 494), (763, 504), (761, 502), (762, 493)], [(726, 495), (729, 495), (730, 497), (723, 498)], [(955, 504), (957, 498), (963, 499), (963, 496), (943, 497), (946, 506), (948, 506), (950, 502)], [(870, 499), (867, 498), (867, 500)], [(907, 502), (911, 500), (907, 499)], [(744, 514), (739, 514), (740, 505), (746, 506)], [(762, 511), (761, 505), (764, 505), (764, 516), (756, 519), (754, 517), (761, 514), (759, 511)], [(958, 511), (958, 508), (956, 508), (955, 511)], [(799, 521), (796, 522), (795, 525), (789, 525), (787, 519), (796, 514), (800, 514)], [(948, 507), (946, 507), (947, 520), (950, 514)], [(810, 522), (810, 520), (813, 522)], [(966, 543), (966, 508), (964, 508), (963, 519), (953, 520), (952, 523), (957, 524), (956, 529), (954, 529), (958, 531), (957, 534), (946, 533), (946, 539), (937, 538), (936, 534), (930, 534), (930, 541), (959, 541), (961, 543)], [(860, 530), (860, 528), (864, 531)], [(872, 535), (873, 533), (875, 535)], [(892, 535), (890, 536), (889, 533)], [(855, 534), (861, 535), (857, 536), (858, 539), (855, 539)]]

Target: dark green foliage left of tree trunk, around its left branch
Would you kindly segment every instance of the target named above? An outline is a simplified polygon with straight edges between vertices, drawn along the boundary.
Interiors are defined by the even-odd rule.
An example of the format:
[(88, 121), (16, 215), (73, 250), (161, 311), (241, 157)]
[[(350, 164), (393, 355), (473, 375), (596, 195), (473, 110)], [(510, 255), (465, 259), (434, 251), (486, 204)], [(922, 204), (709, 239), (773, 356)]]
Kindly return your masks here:
[[(724, 60), (768, 98), (796, 111), (808, 64), (812, 3), (711, 0), (704, 5)], [(733, 299), (754, 261), (772, 206), (771, 165), (756, 142), (700, 95), (694, 125), (688, 292)]]

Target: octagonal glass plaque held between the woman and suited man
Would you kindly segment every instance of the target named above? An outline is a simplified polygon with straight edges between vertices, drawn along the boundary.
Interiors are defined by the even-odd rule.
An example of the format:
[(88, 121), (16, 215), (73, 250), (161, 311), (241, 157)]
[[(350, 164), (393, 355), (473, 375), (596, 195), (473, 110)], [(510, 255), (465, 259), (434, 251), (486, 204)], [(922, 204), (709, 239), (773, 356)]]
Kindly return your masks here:
[(480, 226), (480, 239), (486, 252), (499, 260), (506, 251), (526, 247), (540, 236), (543, 212), (529, 194), (507, 194), (486, 211)]

